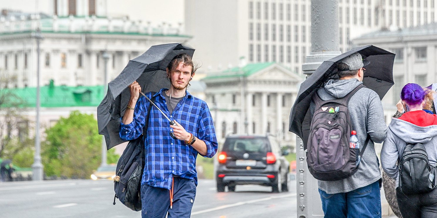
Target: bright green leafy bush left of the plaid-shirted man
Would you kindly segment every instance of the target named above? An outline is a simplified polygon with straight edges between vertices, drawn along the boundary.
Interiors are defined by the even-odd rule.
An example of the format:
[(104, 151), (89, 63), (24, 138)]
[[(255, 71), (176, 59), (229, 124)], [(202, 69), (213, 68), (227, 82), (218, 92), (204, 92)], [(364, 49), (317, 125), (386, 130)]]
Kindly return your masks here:
[[(42, 162), (47, 176), (88, 178), (101, 164), (102, 136), (93, 115), (73, 111), (47, 129), (46, 134)], [(118, 155), (108, 152), (108, 159), (116, 161)]]

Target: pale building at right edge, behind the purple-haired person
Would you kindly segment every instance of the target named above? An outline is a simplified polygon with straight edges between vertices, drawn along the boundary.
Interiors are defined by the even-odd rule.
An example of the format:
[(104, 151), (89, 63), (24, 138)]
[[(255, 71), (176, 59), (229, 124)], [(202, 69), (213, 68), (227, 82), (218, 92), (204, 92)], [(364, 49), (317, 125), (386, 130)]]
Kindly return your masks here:
[(426, 87), (437, 82), (437, 23), (365, 34), (353, 41), (357, 46), (373, 44), (396, 54), (395, 85), (382, 99), (386, 121), (396, 111), (402, 87), (413, 82)]

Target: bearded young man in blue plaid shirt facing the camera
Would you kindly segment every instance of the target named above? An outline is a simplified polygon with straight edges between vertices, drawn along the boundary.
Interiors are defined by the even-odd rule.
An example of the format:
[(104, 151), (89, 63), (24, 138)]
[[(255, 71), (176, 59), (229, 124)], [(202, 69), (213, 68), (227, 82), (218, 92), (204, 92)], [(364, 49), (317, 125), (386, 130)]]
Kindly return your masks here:
[[(150, 113), (147, 129), (146, 164), (142, 175), (142, 218), (190, 217), (196, 196), (196, 157), (213, 157), (217, 138), (208, 106), (187, 92), (195, 74), (193, 61), (187, 54), (177, 55), (167, 66), (170, 89), (161, 89), (149, 99), (176, 125), (155, 107), (147, 111), (150, 102), (139, 96), (138, 82), (129, 85), (131, 98), (121, 120), (120, 137), (133, 140), (141, 136), (145, 119)], [(170, 133), (177, 139), (173, 139)]]

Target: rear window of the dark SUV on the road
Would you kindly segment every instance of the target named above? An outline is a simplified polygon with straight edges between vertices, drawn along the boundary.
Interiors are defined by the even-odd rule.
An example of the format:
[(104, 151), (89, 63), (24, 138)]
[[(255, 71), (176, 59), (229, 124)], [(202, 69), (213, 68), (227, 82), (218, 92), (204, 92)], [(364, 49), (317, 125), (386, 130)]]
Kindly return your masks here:
[(230, 138), (223, 145), (223, 151), (266, 153), (269, 150), (266, 138)]

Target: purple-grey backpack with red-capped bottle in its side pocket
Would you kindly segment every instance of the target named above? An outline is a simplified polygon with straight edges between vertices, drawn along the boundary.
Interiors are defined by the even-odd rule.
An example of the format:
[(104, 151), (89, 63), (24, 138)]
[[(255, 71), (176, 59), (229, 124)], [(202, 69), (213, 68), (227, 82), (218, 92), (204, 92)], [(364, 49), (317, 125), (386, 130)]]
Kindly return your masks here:
[(339, 99), (323, 101), (317, 92), (312, 96), (316, 108), (309, 131), (306, 160), (314, 178), (336, 181), (357, 171), (358, 160), (366, 149), (369, 137), (362, 145), (361, 153), (359, 148), (350, 148), (350, 132), (353, 129), (347, 106), (352, 95), (363, 87), (358, 85)]

